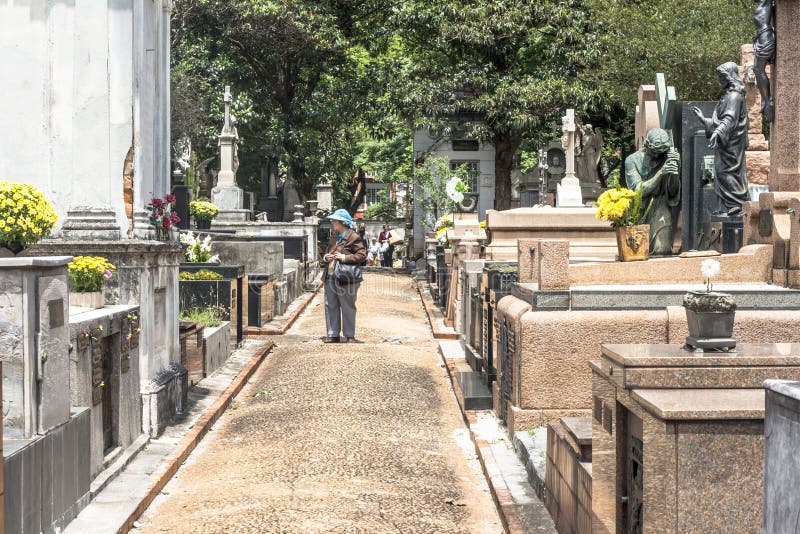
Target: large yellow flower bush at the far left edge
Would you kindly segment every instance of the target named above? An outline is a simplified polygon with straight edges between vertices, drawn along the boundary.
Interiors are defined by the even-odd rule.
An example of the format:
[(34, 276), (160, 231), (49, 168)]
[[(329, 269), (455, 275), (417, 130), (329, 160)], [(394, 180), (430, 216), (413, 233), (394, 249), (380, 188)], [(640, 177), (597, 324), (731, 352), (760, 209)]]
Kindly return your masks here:
[(36, 187), (0, 181), (0, 256), (15, 256), (47, 237), (58, 217)]

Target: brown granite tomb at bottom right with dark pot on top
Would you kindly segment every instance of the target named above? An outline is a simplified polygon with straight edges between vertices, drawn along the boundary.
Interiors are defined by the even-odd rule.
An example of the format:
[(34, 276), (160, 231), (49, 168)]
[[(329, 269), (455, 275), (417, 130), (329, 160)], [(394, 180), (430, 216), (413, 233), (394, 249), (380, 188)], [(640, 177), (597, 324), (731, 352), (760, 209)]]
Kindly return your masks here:
[(592, 368), (593, 532), (758, 532), (764, 390), (800, 345), (603, 345)]

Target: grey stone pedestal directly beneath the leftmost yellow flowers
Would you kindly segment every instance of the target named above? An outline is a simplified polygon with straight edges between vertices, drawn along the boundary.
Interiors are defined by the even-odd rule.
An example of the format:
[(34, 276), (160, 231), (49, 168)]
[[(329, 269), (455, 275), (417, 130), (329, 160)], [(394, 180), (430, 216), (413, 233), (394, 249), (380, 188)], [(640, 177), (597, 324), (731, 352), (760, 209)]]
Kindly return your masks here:
[(0, 259), (3, 426), (23, 437), (69, 420), (69, 256)]

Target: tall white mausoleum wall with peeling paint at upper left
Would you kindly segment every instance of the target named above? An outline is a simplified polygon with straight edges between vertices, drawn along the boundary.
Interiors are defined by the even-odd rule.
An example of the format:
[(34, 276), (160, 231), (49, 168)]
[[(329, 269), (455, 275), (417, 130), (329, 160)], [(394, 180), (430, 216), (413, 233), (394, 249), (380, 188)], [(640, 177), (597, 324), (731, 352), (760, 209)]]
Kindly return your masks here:
[(0, 4), (0, 178), (31, 183), (59, 226), (75, 208), (128, 228), (122, 172), (135, 150), (135, 204), (169, 178), (169, 0)]

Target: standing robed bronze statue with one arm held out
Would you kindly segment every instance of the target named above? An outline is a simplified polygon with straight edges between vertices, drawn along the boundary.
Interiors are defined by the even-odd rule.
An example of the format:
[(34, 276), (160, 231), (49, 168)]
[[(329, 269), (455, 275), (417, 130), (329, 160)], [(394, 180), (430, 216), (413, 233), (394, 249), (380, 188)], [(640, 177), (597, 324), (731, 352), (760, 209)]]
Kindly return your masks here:
[(742, 204), (748, 200), (745, 152), (750, 125), (739, 67), (733, 62), (724, 63), (717, 67), (717, 74), (725, 90), (713, 116), (703, 116), (697, 107), (692, 111), (705, 127), (708, 147), (715, 150), (714, 190), (721, 209), (713, 215), (735, 217), (742, 214)]

